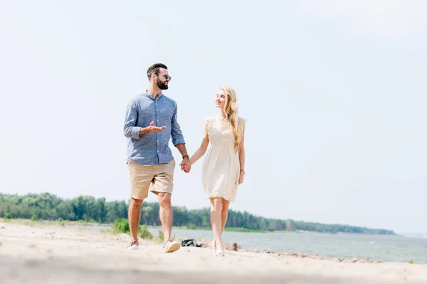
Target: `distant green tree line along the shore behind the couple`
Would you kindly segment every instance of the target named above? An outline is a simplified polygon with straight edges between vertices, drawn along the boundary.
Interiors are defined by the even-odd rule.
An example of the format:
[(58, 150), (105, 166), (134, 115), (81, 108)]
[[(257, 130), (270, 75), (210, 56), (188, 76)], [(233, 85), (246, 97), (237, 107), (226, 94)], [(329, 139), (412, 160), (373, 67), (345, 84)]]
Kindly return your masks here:
[[(0, 217), (13, 219), (69, 220), (112, 224), (116, 219), (127, 219), (128, 202), (109, 201), (105, 198), (78, 196), (63, 199), (50, 193), (9, 195), (0, 193)], [(174, 226), (209, 227), (210, 209), (173, 207)], [(144, 202), (141, 224), (160, 226), (159, 203)], [(395, 234), (386, 229), (369, 229), (341, 224), (321, 224), (284, 219), (258, 217), (248, 212), (228, 211), (226, 226), (265, 231), (317, 231), (322, 233)]]

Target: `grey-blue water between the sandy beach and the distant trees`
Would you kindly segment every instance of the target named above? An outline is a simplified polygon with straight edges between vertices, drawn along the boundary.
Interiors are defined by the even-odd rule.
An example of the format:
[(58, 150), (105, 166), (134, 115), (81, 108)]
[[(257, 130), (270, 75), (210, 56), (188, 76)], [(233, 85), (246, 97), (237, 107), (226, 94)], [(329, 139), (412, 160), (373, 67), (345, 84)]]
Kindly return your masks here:
[[(92, 230), (110, 226), (91, 226)], [(159, 235), (159, 228), (149, 228)], [(172, 229), (176, 239), (211, 241), (211, 231)], [(224, 231), (226, 244), (237, 243), (245, 249), (265, 249), (275, 253), (318, 254), (330, 258), (353, 258), (369, 261), (399, 261), (427, 263), (427, 239), (408, 236), (369, 234), (319, 234), (295, 232), (245, 233)]]

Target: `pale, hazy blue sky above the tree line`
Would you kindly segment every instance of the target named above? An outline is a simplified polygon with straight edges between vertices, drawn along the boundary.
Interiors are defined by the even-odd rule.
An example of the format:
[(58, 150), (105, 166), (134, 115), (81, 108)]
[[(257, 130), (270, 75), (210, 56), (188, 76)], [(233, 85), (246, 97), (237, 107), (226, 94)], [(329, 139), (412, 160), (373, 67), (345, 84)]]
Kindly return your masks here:
[[(214, 94), (236, 89), (231, 209), (427, 233), (426, 14), (422, 0), (3, 0), (0, 192), (129, 200), (125, 110), (163, 62), (190, 155)], [(209, 206), (202, 160), (177, 166), (174, 206)]]

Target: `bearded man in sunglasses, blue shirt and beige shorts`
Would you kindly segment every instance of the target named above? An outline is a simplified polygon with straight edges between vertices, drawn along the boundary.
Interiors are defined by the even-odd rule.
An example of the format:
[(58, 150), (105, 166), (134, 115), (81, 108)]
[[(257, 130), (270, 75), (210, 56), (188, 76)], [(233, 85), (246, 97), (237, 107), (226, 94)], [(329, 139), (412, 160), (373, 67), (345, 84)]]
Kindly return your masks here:
[(164, 252), (171, 253), (181, 247), (171, 239), (171, 195), (175, 168), (175, 160), (168, 146), (171, 136), (172, 143), (182, 155), (181, 170), (189, 167), (186, 168), (186, 173), (189, 173), (191, 165), (177, 120), (176, 102), (162, 94), (171, 80), (166, 65), (157, 63), (150, 66), (147, 76), (149, 88), (128, 105), (124, 127), (131, 187), (129, 226), (132, 241), (127, 249), (139, 247), (137, 232), (141, 207), (150, 190), (159, 199)]

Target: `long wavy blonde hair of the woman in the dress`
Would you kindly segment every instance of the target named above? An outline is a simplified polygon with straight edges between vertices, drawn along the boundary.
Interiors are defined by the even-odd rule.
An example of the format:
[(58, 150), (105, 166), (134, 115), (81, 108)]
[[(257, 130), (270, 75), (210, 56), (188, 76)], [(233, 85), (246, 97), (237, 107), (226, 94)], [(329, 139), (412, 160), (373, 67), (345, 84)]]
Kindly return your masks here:
[(234, 151), (238, 151), (238, 146), (242, 141), (241, 121), (237, 115), (237, 96), (236, 91), (231, 87), (223, 86), (221, 90), (226, 93), (226, 103), (224, 104), (224, 112), (226, 119), (230, 122), (234, 135)]

